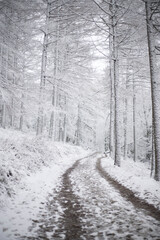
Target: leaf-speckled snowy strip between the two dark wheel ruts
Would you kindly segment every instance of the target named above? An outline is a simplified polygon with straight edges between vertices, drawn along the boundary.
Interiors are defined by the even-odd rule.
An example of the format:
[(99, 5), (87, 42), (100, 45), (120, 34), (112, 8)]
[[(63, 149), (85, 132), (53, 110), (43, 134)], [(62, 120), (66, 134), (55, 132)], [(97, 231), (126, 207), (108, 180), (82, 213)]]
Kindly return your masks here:
[(84, 239), (160, 239), (159, 221), (122, 197), (112, 184), (101, 177), (96, 164), (96, 157), (84, 159), (70, 175), (74, 193), (82, 206)]

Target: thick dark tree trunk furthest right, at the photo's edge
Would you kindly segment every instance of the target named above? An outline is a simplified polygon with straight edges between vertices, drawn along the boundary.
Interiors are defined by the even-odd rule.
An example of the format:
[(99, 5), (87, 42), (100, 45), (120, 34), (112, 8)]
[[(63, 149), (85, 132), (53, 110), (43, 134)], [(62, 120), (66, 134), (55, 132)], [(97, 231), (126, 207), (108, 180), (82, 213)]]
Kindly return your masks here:
[(146, 0), (146, 21), (149, 49), (149, 63), (151, 75), (151, 97), (152, 97), (152, 117), (153, 117), (153, 137), (155, 149), (155, 180), (160, 181), (160, 86), (157, 74), (157, 62), (155, 53), (154, 27), (151, 15), (151, 1)]

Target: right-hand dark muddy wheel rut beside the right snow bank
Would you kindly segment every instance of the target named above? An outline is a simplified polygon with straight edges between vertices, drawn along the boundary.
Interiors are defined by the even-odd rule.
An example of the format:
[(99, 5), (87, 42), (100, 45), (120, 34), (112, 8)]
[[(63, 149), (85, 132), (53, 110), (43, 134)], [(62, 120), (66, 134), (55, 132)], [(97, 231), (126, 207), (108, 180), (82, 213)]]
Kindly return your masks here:
[(121, 183), (117, 182), (114, 178), (112, 178), (102, 167), (101, 159), (99, 158), (96, 163), (96, 169), (98, 170), (101, 177), (103, 177), (106, 181), (108, 181), (114, 188), (116, 188), (122, 197), (126, 200), (130, 201), (136, 208), (145, 210), (146, 214), (154, 217), (156, 220), (160, 221), (160, 211), (154, 207), (152, 204), (145, 202), (144, 200), (136, 197), (134, 193), (123, 186)]

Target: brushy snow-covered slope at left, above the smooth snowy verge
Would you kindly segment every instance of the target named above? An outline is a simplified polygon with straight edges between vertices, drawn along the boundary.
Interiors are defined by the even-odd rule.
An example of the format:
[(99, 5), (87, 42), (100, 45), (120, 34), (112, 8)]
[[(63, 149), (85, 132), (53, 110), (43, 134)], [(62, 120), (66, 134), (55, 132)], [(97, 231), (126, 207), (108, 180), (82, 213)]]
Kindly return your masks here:
[(53, 143), (14, 130), (0, 129), (0, 206), (7, 196), (16, 193), (22, 178), (51, 162), (60, 163), (66, 157), (76, 159), (85, 151), (80, 147)]

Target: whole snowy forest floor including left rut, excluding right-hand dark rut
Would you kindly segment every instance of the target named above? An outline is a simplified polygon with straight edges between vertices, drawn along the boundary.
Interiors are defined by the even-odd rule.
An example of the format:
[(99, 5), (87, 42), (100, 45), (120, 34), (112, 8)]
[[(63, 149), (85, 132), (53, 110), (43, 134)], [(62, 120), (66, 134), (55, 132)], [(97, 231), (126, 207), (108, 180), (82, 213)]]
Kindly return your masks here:
[[(1, 129), (0, 240), (46, 234), (46, 239), (54, 234), (64, 239), (73, 233), (84, 239), (159, 239), (159, 222), (101, 177), (96, 168), (100, 154), (74, 164), (90, 154), (81, 147)], [(130, 159), (122, 160), (121, 168), (111, 158), (101, 163), (112, 178), (159, 208), (160, 183), (150, 178), (149, 166)]]

